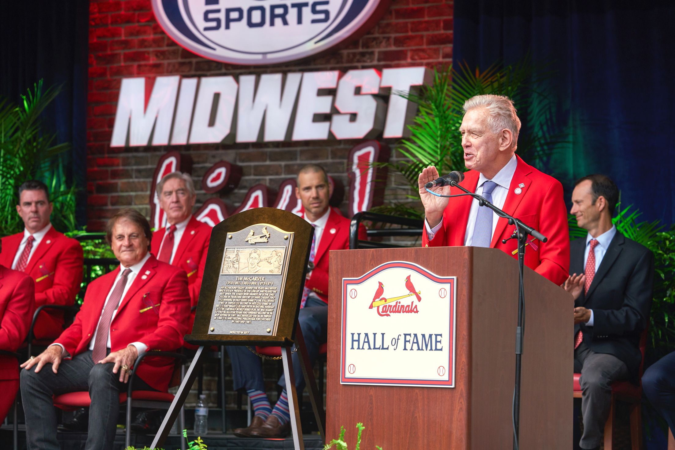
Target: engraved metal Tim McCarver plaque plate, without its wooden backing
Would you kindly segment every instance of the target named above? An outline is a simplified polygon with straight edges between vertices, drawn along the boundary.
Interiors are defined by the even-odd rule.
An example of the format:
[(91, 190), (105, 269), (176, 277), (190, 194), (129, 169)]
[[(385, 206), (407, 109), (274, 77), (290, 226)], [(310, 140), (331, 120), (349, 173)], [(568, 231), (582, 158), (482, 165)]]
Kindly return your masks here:
[(227, 233), (210, 335), (276, 335), (293, 235), (269, 223)]

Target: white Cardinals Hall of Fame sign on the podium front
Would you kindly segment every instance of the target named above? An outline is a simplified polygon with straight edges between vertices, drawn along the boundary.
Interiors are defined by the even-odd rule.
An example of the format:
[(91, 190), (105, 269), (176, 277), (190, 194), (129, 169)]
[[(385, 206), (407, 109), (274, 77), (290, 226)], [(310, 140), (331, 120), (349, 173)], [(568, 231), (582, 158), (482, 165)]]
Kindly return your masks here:
[(340, 383), (454, 387), (455, 286), (404, 261), (343, 278)]

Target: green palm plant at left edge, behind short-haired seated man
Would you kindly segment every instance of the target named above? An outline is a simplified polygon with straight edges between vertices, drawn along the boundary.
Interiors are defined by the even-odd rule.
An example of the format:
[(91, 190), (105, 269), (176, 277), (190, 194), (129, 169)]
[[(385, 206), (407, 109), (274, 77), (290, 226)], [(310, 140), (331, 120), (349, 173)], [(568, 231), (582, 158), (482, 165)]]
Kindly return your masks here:
[(22, 95), (22, 103), (0, 99), (0, 235), (22, 231), (24, 225), (16, 213), (17, 188), (28, 179), (41, 179), (49, 188), (56, 229), (74, 230), (75, 188), (70, 186), (59, 154), (70, 144), (57, 144), (56, 134), (43, 129), (41, 114), (61, 91), (43, 90), (43, 81)]

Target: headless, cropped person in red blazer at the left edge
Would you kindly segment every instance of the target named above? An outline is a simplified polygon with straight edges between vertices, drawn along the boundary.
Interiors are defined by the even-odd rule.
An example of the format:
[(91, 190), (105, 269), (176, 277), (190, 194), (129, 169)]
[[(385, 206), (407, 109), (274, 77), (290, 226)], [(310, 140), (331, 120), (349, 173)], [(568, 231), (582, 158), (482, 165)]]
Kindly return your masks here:
[[(2, 252), (2, 241), (0, 241)], [(35, 283), (23, 272), (0, 264), (0, 350), (16, 351), (28, 335), (35, 304)], [(0, 422), (19, 390), (19, 364), (0, 355)]]

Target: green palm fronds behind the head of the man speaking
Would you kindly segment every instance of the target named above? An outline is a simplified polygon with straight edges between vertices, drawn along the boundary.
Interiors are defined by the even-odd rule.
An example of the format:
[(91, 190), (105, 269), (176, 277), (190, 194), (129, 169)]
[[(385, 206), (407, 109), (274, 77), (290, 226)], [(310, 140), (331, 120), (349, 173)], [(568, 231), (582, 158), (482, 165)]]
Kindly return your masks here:
[[(439, 173), (464, 169), (464, 150), (459, 132), (467, 99), (479, 94), (502, 94), (514, 101), (523, 126), (518, 136), (518, 154), (529, 164), (541, 166), (545, 158), (564, 143), (553, 126), (553, 96), (547, 92), (551, 72), (547, 65), (533, 63), (528, 56), (515, 64), (495, 63), (485, 70), (460, 65), (459, 71), (450, 67), (437, 68), (433, 82), (422, 86), (418, 94), (396, 92), (415, 103), (418, 113), (408, 125), (410, 136), (398, 144), (406, 158), (396, 163), (384, 163), (404, 175), (409, 188), (418, 190), (418, 174), (433, 165)], [(409, 191), (408, 191), (409, 192)], [(377, 212), (404, 217), (421, 218), (422, 212), (412, 207), (417, 195), (406, 196), (408, 204), (387, 202)], [(404, 205), (403, 207), (400, 205)]]

